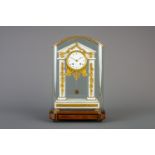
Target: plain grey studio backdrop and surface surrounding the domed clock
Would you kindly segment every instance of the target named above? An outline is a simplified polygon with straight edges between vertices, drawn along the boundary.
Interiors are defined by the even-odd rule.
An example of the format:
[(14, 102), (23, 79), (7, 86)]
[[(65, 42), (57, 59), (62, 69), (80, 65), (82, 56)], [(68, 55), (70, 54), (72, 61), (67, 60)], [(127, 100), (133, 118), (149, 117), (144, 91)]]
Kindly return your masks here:
[[(48, 120), (52, 45), (104, 42), (103, 122)], [(0, 128), (155, 128), (155, 27), (0, 27)]]

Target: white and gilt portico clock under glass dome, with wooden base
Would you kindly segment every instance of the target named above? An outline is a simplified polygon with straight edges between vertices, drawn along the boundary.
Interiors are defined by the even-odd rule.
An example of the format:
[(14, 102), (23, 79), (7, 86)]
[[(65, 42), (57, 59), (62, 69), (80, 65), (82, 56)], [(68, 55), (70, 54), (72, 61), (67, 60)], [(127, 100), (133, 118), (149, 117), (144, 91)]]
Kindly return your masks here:
[(49, 118), (105, 119), (103, 106), (103, 47), (90, 37), (71, 36), (54, 45), (53, 103)]

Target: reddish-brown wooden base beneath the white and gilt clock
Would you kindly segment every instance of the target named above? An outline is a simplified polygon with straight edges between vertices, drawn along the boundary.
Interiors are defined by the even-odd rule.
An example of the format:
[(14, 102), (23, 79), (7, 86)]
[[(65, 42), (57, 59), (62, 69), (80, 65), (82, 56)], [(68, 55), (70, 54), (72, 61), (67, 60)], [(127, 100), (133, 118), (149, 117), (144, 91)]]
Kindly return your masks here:
[(102, 121), (105, 119), (105, 112), (101, 110), (55, 109), (49, 112), (49, 119), (52, 119), (54, 121)]

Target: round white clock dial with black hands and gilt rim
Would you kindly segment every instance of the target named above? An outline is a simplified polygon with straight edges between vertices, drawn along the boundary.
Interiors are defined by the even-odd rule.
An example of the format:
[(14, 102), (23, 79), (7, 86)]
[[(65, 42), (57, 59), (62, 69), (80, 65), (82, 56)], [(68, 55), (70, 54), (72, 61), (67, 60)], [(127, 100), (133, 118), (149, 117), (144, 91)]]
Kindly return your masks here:
[(67, 58), (67, 65), (73, 70), (80, 70), (87, 64), (87, 58), (79, 51), (71, 52)]

